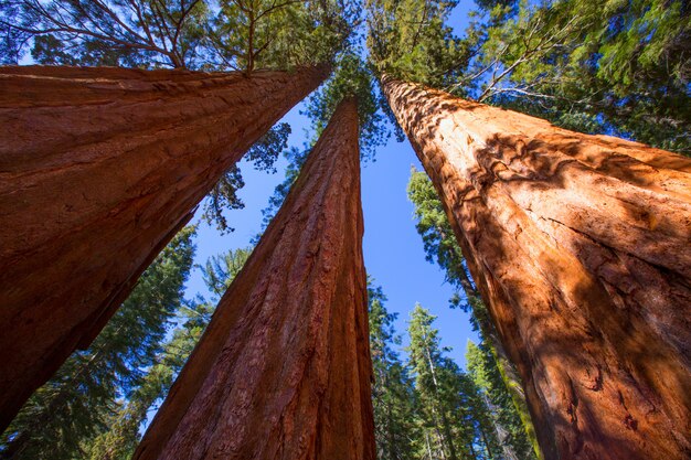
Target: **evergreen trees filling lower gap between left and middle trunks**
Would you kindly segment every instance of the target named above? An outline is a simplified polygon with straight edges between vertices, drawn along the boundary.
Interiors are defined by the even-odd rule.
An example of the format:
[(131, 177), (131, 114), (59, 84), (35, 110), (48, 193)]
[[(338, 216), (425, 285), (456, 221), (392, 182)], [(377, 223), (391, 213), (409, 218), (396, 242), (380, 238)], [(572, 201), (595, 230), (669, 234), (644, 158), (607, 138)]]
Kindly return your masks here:
[(74, 353), (0, 439), (3, 459), (129, 459), (249, 249), (202, 268), (210, 296), (183, 296), (194, 227), (156, 258), (92, 346)]

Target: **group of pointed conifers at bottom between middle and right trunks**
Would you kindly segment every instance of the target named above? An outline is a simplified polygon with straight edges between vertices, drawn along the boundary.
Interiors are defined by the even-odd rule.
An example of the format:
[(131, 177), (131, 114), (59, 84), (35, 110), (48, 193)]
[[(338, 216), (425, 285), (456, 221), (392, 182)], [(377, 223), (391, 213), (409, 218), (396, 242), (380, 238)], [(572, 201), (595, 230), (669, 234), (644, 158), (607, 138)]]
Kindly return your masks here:
[(440, 345), (435, 317), (416, 304), (406, 357), (382, 289), (370, 285), (372, 396), (378, 458), (533, 459), (525, 428), (483, 345), (468, 342), (464, 371)]

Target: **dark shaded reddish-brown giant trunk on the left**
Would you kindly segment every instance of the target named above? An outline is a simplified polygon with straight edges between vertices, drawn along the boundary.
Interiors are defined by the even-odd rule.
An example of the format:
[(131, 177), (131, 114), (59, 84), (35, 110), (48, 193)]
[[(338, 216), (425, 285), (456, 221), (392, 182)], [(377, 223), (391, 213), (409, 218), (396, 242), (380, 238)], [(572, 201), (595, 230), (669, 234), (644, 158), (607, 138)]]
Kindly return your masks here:
[(0, 68), (0, 428), (326, 73)]

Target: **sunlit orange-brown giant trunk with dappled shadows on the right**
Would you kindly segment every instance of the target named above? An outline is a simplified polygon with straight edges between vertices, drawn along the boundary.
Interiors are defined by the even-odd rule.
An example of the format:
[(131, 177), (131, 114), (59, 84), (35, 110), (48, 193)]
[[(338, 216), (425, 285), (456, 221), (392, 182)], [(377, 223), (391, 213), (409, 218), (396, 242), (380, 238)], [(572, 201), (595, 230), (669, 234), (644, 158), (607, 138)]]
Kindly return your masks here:
[(683, 459), (691, 161), (384, 78), (548, 459)]

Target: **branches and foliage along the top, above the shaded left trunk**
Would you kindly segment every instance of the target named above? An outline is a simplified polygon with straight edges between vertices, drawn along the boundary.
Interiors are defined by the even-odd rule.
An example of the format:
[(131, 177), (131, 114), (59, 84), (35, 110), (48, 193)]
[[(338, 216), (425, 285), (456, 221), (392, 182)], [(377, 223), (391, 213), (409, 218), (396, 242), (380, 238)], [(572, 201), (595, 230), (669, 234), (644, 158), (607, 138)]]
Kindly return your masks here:
[(328, 63), (351, 34), (354, 3), (277, 0), (9, 0), (4, 58), (30, 47), (52, 65), (289, 69)]

